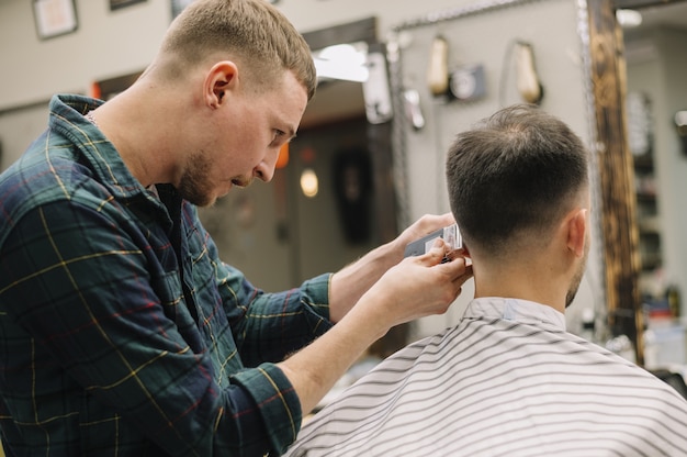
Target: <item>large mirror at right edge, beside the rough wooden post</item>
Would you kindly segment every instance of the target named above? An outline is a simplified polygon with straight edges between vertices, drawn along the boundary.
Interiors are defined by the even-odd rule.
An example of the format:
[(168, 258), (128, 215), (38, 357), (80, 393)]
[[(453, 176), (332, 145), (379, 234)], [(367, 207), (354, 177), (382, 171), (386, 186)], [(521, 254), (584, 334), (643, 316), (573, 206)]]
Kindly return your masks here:
[[(617, 1), (627, 67), (627, 126), (639, 235), (644, 365), (687, 364), (687, 2)], [(626, 21), (628, 18), (630, 21)]]

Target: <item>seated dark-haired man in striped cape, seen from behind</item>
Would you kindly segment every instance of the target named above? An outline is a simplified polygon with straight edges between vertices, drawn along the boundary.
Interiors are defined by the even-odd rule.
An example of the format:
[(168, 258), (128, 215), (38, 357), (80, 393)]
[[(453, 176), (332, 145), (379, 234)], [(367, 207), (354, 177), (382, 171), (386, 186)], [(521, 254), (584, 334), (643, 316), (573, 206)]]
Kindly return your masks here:
[(315, 415), (289, 455), (686, 455), (687, 402), (565, 331), (589, 249), (588, 160), (570, 127), (534, 107), (459, 134), (447, 177), (474, 299), (455, 326)]

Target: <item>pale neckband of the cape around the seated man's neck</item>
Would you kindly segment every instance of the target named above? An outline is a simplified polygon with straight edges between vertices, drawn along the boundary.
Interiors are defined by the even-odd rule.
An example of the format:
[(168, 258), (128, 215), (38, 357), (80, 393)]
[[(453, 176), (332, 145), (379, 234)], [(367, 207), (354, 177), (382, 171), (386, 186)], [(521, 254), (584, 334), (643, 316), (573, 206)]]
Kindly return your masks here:
[(484, 297), (468, 305), (463, 319), (503, 319), (522, 324), (551, 326), (565, 331), (565, 314), (533, 301)]

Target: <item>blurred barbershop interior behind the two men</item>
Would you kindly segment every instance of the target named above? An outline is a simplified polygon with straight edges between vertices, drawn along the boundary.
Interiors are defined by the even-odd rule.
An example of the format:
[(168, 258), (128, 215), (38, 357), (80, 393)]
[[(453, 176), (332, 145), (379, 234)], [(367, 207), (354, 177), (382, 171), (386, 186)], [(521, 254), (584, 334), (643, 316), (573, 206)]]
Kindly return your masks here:
[[(44, 131), (52, 94), (131, 85), (191, 1), (0, 0), (0, 169)], [(312, 48), (318, 86), (272, 182), (199, 209), (224, 261), (266, 291), (340, 269), (450, 211), (458, 131), (534, 103), (593, 155), (593, 243), (567, 331), (687, 397), (687, 1), (271, 2)], [(330, 394), (451, 326), (472, 293), (469, 281), (446, 314), (394, 327)]]

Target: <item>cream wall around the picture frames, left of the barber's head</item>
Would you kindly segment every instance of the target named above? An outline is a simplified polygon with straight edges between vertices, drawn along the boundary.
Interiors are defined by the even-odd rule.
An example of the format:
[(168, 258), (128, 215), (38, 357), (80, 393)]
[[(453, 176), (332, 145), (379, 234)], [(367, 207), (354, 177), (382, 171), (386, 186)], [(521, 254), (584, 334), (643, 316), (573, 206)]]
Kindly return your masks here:
[(93, 80), (136, 71), (155, 55), (171, 18), (169, 1), (110, 11), (106, 0), (76, 0), (78, 30), (41, 41), (32, 1), (0, 0), (0, 110), (89, 90)]

